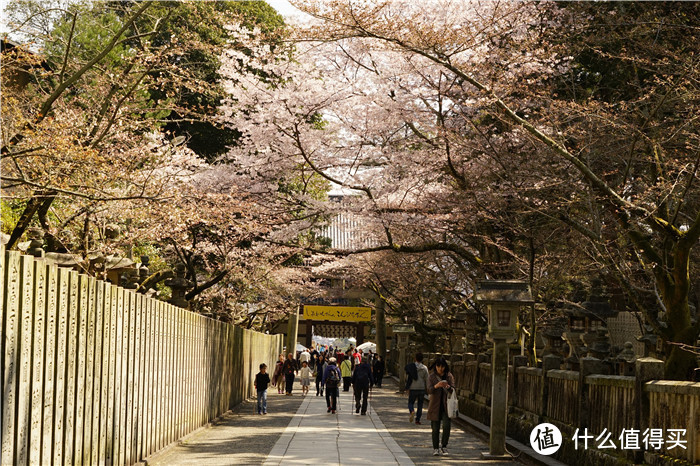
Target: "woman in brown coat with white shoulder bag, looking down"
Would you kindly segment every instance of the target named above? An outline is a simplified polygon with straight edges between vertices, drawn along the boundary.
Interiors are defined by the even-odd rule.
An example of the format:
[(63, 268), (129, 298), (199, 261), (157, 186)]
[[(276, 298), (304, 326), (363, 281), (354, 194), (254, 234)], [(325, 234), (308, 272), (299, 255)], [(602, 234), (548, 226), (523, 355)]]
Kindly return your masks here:
[[(447, 414), (447, 399), (455, 389), (455, 379), (445, 358), (435, 361), (433, 372), (428, 377), (428, 420), (433, 431), (433, 456), (447, 456), (447, 443), (450, 440), (452, 419)], [(442, 443), (440, 443), (440, 423), (442, 423)]]

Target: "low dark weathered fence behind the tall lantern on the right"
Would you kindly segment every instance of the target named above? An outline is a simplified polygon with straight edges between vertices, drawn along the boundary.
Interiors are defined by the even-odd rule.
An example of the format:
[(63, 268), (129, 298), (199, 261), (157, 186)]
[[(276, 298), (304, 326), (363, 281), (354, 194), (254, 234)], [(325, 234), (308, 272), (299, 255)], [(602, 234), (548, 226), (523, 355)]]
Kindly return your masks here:
[[(436, 356), (429, 353), (428, 364)], [(452, 358), (451, 355), (442, 356), (448, 360)], [(478, 362), (486, 359), (486, 355), (477, 358), (468, 354), (463, 358), (465, 360), (455, 358), (460, 360), (452, 365), (460, 397), (460, 412), (488, 425), (491, 364)], [(559, 363), (554, 362), (553, 366), (559, 367)], [(595, 366), (600, 361), (593, 359), (592, 362)], [(613, 442), (617, 443), (617, 449), (605, 452), (617, 454), (616, 460), (624, 461), (624, 455), (628, 452), (622, 450), (619, 441), (623, 431), (636, 429), (639, 445), (644, 447), (642, 439), (645, 430), (655, 429), (663, 433), (663, 445), (659, 448), (644, 447), (647, 454), (656, 459), (664, 455), (677, 464), (700, 464), (700, 383), (647, 378), (644, 367), (649, 365), (656, 366), (657, 369), (660, 366), (661, 372), (663, 371), (663, 362), (652, 358), (637, 361), (638, 373), (635, 377), (586, 371), (583, 373), (589, 375), (582, 377), (577, 371), (544, 371), (541, 368), (510, 366), (508, 404), (512, 416), (509, 419), (509, 435), (528, 444), (532, 428), (541, 422), (552, 422), (560, 426), (566, 437), (565, 442), (571, 439), (577, 428), (581, 431), (588, 429), (594, 436), (607, 430)], [(530, 422), (524, 425), (524, 430), (513, 428), (523, 419)], [(683, 432), (674, 434), (679, 429)], [(671, 435), (679, 435), (682, 446), (674, 447), (673, 442), (669, 442)], [(590, 448), (593, 449), (593, 445)], [(557, 453), (561, 456), (557, 458), (577, 464), (600, 461), (599, 457), (580, 456), (584, 454), (582, 449), (562, 448)]]

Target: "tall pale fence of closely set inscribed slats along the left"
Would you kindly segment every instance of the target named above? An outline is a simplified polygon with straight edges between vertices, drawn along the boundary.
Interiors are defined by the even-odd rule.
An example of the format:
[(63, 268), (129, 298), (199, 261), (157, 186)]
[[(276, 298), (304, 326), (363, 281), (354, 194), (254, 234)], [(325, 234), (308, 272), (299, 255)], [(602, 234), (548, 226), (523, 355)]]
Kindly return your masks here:
[(136, 463), (253, 394), (281, 335), (0, 250), (0, 464)]

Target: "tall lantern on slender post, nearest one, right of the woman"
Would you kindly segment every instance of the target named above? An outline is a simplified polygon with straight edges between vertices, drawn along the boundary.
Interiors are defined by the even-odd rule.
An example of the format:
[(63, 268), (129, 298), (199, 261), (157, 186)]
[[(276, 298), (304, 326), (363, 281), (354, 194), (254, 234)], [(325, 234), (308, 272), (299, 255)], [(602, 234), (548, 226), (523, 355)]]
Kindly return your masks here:
[(476, 284), (474, 299), (486, 305), (488, 333), (493, 342), (491, 363), (491, 435), (484, 459), (511, 459), (506, 454), (508, 417), (508, 343), (517, 338), (520, 307), (532, 304), (530, 284), (516, 280), (483, 280)]

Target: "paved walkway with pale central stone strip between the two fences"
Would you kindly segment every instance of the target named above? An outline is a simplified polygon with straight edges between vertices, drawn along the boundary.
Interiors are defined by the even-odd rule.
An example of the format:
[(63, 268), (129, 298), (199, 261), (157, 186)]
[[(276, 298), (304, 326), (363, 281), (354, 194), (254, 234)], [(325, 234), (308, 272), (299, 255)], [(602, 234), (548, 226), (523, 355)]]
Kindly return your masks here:
[[(255, 414), (246, 401), (211, 427), (200, 429), (164, 451), (147, 458), (148, 465), (429, 465), (484, 464), (480, 453), (487, 445), (452, 425), (450, 456), (432, 456), (430, 423), (408, 422), (406, 397), (396, 392), (392, 379), (374, 389), (367, 416), (354, 413), (352, 391), (340, 395), (337, 414), (326, 412), (324, 397), (311, 391), (294, 396), (268, 390), (268, 413)], [(427, 403), (425, 405), (427, 408)]]

